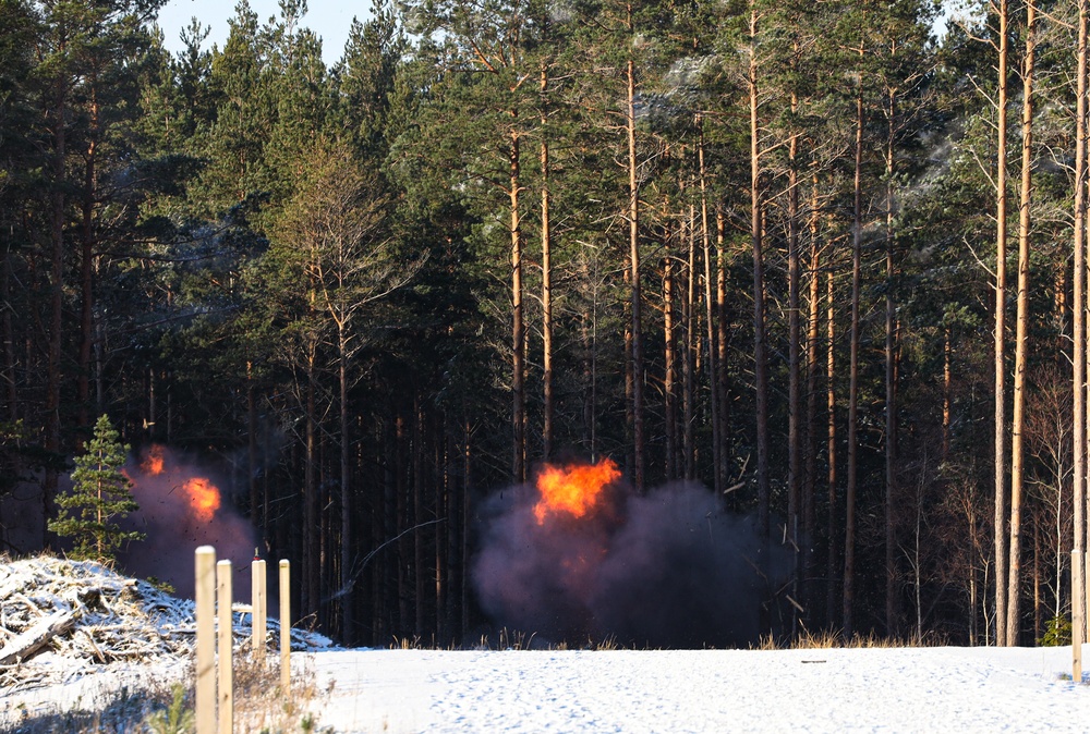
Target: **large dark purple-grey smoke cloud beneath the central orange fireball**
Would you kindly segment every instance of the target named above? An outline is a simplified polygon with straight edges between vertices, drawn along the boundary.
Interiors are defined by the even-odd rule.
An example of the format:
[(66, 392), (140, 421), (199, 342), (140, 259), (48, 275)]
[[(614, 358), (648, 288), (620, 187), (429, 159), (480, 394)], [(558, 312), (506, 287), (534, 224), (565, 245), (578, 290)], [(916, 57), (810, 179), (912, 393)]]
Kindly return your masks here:
[[(538, 525), (537, 491), (517, 487), (484, 509), (473, 582), (500, 626), (579, 644), (741, 647), (758, 639), (760, 607), (789, 554), (702, 486), (637, 494), (611, 488), (583, 518)], [(765, 562), (762, 564), (762, 562)]]

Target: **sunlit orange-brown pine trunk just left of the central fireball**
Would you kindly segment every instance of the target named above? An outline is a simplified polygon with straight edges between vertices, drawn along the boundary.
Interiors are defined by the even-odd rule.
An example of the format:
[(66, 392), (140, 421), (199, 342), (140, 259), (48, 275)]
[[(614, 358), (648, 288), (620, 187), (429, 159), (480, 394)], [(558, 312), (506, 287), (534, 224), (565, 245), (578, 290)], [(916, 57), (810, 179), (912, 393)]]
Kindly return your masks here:
[(522, 306), (522, 220), (519, 194), (522, 191), (519, 160), (519, 133), (511, 130), (510, 198), (511, 198), (511, 431), (513, 437), (511, 478), (516, 484), (526, 480), (526, 337)]

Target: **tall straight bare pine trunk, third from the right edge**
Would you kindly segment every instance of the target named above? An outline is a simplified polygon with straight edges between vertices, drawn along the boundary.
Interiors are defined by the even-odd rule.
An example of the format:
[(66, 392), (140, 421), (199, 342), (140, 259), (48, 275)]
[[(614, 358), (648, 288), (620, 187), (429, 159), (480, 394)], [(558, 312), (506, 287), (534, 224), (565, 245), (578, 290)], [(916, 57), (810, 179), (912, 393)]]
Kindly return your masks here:
[(995, 172), (995, 644), (1007, 644), (1006, 559), (1006, 298), (1007, 298), (1007, 0), (1000, 15), (997, 142)]

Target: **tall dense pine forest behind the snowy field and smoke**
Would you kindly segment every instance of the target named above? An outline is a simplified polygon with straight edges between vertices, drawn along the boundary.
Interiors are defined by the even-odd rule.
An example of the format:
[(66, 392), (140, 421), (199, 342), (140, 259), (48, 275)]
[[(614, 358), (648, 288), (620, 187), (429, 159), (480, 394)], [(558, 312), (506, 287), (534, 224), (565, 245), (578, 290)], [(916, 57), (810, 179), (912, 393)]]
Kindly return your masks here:
[(178, 54), (159, 4), (0, 5), (41, 545), (106, 413), (218, 465), (346, 643), (465, 638), (481, 501), (601, 456), (794, 548), (779, 634), (1069, 613), (1085, 0), (375, 0), (331, 68), (305, 0)]

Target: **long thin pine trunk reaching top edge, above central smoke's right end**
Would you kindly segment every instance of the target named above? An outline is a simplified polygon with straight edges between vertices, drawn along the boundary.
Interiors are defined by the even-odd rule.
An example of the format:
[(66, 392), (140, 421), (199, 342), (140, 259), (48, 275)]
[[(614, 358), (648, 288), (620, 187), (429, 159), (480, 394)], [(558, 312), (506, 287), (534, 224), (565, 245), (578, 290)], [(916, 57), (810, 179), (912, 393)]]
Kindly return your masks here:
[(753, 376), (756, 407), (758, 529), (768, 535), (771, 485), (768, 481), (768, 357), (764, 334), (764, 254), (762, 252), (761, 140), (758, 125), (756, 3), (750, 0), (750, 240), (753, 246)]

